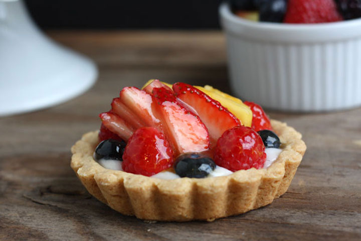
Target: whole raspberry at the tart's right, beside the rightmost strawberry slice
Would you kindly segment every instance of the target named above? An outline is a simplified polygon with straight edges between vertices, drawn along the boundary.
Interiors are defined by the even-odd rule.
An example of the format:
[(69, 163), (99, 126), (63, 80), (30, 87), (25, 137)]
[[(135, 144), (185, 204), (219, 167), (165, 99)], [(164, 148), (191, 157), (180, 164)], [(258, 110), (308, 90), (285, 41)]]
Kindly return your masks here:
[(266, 161), (262, 138), (249, 127), (234, 127), (218, 139), (214, 160), (233, 172), (262, 168)]

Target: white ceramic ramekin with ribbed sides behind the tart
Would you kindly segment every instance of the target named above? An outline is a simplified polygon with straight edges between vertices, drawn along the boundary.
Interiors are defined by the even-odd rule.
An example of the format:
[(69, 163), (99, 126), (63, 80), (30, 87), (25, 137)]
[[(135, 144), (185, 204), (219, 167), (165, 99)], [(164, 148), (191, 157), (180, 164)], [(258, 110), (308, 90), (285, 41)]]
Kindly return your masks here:
[(361, 19), (251, 22), (220, 6), (234, 92), (265, 108), (329, 111), (361, 105)]

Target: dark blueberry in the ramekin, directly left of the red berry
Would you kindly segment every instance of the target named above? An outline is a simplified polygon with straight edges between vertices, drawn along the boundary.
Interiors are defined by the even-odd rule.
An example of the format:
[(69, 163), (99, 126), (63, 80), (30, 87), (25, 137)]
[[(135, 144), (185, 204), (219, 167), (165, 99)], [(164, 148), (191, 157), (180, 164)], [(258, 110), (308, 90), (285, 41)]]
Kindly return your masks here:
[(287, 0), (257, 0), (261, 22), (282, 23), (287, 11)]

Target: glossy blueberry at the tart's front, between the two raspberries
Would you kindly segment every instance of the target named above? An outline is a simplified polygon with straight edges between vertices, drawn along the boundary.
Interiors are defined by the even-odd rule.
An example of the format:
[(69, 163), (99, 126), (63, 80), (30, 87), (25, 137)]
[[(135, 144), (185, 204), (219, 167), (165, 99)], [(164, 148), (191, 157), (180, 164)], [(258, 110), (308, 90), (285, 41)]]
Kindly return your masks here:
[(175, 173), (180, 177), (205, 178), (216, 168), (212, 158), (197, 153), (183, 154), (174, 164)]

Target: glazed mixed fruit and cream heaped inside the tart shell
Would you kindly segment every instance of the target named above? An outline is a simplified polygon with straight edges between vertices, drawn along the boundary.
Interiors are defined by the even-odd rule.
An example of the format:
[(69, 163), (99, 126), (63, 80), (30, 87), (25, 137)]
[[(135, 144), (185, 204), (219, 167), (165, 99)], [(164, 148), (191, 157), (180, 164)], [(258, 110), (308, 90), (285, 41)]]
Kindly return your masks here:
[[(111, 110), (100, 114), (99, 139), (117, 136), (127, 143), (120, 142), (121, 154), (113, 157), (111, 144), (119, 141), (102, 142), (94, 154), (101, 165), (156, 178), (205, 178), (265, 168), (277, 159), (280, 141), (268, 131), (272, 126), (261, 106), (211, 86), (180, 82), (169, 86), (154, 80), (147, 83), (145, 91), (125, 87), (120, 97), (113, 99)], [(247, 123), (252, 128), (243, 126), (236, 115), (202, 89), (233, 109), (240, 107), (237, 116), (242, 119), (247, 120), (250, 111), (252, 119)], [(109, 154), (102, 152), (105, 144)]]

